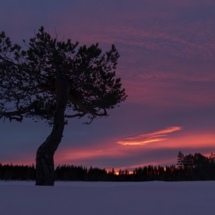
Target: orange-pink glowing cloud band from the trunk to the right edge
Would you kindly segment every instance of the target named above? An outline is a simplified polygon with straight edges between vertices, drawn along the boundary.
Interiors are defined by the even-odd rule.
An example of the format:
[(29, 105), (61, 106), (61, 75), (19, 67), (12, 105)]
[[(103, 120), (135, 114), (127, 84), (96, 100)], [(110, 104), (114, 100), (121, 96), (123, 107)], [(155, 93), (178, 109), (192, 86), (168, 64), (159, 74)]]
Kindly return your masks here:
[[(215, 134), (213, 132), (183, 133), (180, 135), (177, 134), (177, 136), (171, 135), (167, 138), (167, 134), (179, 130), (181, 130), (181, 127), (169, 127), (160, 131), (129, 137), (129, 140), (136, 137), (140, 139), (140, 136), (142, 138), (142, 136), (144, 135), (147, 137), (152, 136), (154, 140), (158, 138), (156, 137), (156, 135), (163, 135), (166, 138), (163, 141), (149, 141), (149, 143), (147, 143), (146, 145), (130, 144), (128, 147), (125, 147), (125, 145), (119, 144), (118, 142), (118, 144), (116, 144), (116, 141), (113, 140), (113, 142), (107, 142), (106, 144), (104, 144), (102, 150), (90, 147), (62, 150), (57, 153), (55, 161), (58, 164), (73, 163), (74, 165), (82, 165), (83, 163), (86, 163), (85, 161), (87, 161), (87, 163), (90, 163), (90, 160), (94, 160), (95, 163), (97, 160), (99, 165), (101, 159), (107, 159), (107, 161), (110, 160), (110, 164), (106, 162), (106, 165), (100, 165), (100, 167), (105, 168), (106, 170), (111, 170), (111, 168), (114, 167), (115, 171), (119, 171), (119, 169), (131, 170), (136, 167), (145, 165), (162, 166), (166, 164), (176, 164), (177, 155), (171, 154), (168, 156), (167, 154), (165, 154), (163, 158), (156, 158), (156, 155), (153, 155), (153, 151), (155, 152), (155, 154), (157, 153), (157, 151), (162, 151), (164, 149), (177, 149), (178, 151), (182, 152), (183, 150), (189, 149), (192, 153), (202, 153), (201, 149), (204, 150), (205, 148), (208, 148), (208, 152), (205, 152), (204, 150), (205, 153), (202, 154), (207, 154), (214, 151), (213, 148), (215, 148)], [(139, 143), (140, 140), (137, 142)], [(198, 148), (198, 150), (196, 151), (195, 148)], [(116, 161), (127, 158), (131, 159), (131, 157), (135, 157), (136, 155), (139, 156), (140, 154), (142, 154), (143, 158), (146, 158), (146, 156), (149, 156), (147, 154), (148, 152), (150, 152), (150, 156), (154, 156), (149, 157), (150, 161), (144, 162), (140, 159), (139, 161), (136, 161), (136, 163), (133, 163), (131, 165), (117, 165), (117, 163), (116, 165), (111, 165), (112, 159), (115, 159)]]

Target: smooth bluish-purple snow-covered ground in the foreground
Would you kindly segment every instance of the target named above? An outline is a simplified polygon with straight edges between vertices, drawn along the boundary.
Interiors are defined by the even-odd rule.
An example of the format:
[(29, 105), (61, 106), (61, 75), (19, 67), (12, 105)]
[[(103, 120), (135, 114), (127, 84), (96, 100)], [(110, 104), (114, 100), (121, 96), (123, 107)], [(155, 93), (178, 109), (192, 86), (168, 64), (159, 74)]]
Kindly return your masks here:
[(215, 182), (0, 181), (1, 215), (204, 215), (215, 213)]

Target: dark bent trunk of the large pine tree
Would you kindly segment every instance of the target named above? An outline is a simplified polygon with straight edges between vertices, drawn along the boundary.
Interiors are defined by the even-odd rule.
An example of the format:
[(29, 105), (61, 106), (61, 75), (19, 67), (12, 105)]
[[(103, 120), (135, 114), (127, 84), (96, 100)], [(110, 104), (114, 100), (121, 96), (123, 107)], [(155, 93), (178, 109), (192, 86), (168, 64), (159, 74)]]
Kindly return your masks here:
[(56, 112), (51, 134), (38, 148), (36, 154), (36, 185), (54, 185), (54, 153), (57, 150), (64, 130), (64, 112), (68, 102), (68, 79), (59, 75), (56, 78)]

